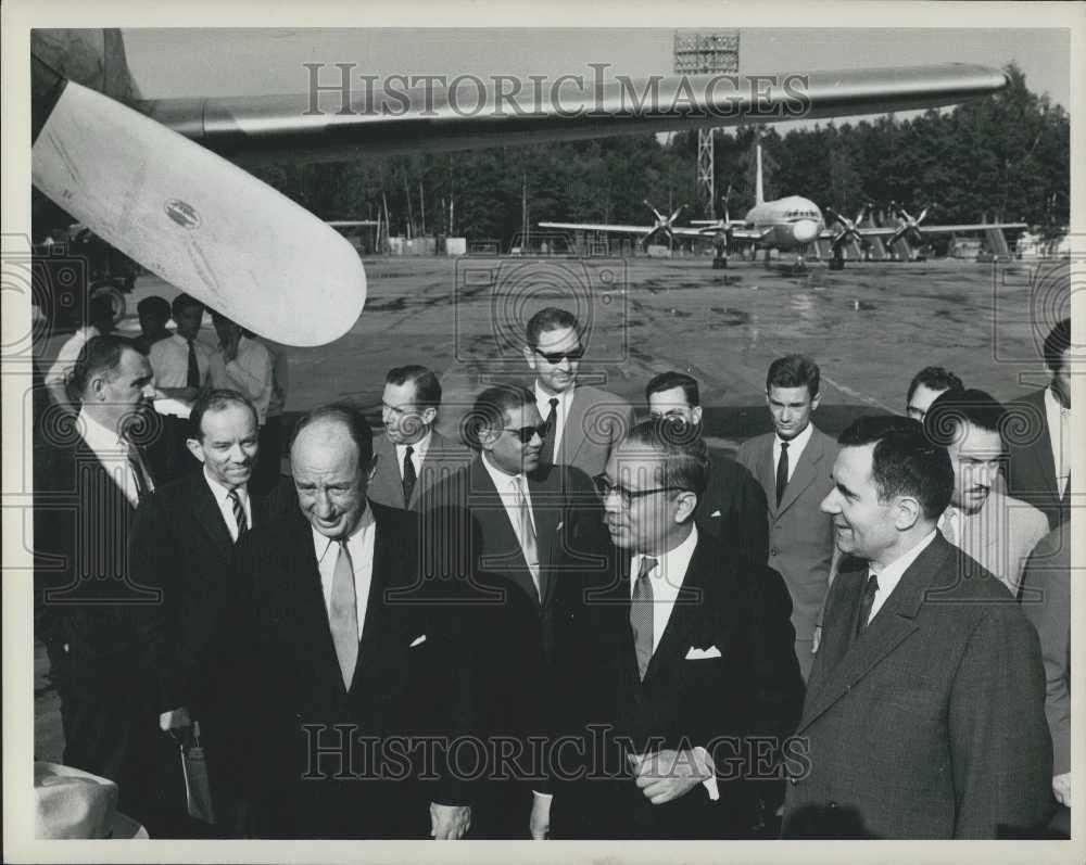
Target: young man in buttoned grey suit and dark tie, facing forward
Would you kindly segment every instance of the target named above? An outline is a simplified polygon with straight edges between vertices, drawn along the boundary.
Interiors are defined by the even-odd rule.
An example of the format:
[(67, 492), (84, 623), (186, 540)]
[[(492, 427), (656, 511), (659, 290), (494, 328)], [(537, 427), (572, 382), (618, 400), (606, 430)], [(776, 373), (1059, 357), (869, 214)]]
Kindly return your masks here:
[(744, 442), (735, 456), (766, 492), (769, 567), (781, 573), (792, 595), (796, 657), (805, 679), (833, 558), (832, 521), (819, 505), (832, 488), (837, 445), (811, 423), (820, 398), (818, 364), (804, 355), (774, 360), (766, 377), (766, 405), (775, 432)]

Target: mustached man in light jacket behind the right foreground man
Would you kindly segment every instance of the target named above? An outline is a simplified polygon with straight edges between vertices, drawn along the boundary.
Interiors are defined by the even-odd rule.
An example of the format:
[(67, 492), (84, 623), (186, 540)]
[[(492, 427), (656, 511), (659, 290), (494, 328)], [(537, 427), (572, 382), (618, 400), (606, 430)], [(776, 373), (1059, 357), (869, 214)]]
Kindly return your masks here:
[(1006, 424), (1007, 410), (972, 389), (944, 392), (924, 420), (929, 440), (946, 447), (954, 466), (954, 495), (939, 531), (964, 554), (961, 575), (973, 576), (968, 569), (975, 560), (1016, 596), (1026, 559), (1048, 534), (1048, 518), (996, 487)]

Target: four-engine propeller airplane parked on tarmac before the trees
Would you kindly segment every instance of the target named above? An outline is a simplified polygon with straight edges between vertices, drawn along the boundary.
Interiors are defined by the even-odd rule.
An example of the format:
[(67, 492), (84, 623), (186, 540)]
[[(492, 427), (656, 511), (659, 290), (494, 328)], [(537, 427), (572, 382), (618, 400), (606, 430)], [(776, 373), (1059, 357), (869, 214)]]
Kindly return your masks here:
[[(924, 234), (968, 233), (971, 231), (1000, 231), (1005, 229), (1024, 229), (1025, 222), (977, 222), (972, 225), (921, 226), (934, 205), (925, 207), (915, 219), (907, 211), (891, 205), (900, 220), (896, 226), (874, 227), (861, 225), (870, 205), (864, 205), (855, 220), (848, 219), (836, 211), (826, 207), (825, 213), (833, 222), (841, 226), (839, 231), (826, 227), (822, 211), (810, 199), (801, 195), (787, 195), (783, 199), (766, 201), (761, 174), (761, 145), (756, 145), (755, 205), (742, 219), (731, 219), (728, 215), (728, 203), (731, 188), (723, 198), (723, 219), (692, 219), (690, 226), (667, 226), (657, 224), (653, 232), (664, 230), (671, 237), (711, 239), (717, 247), (715, 267), (728, 267), (731, 250), (735, 245), (765, 250), (766, 260), (769, 260), (770, 250), (794, 252), (796, 255), (794, 268), (801, 270), (812, 243), (826, 242), (830, 246), (831, 270), (841, 270), (845, 266), (845, 247), (849, 242), (861, 246), (869, 244), (874, 238), (886, 238), (886, 245), (893, 246), (899, 240), (915, 244), (923, 242)], [(646, 202), (647, 204), (647, 202)], [(677, 211), (671, 219), (678, 216)], [(657, 214), (659, 216), (659, 214)], [(540, 222), (540, 228), (599, 231), (603, 233), (643, 234), (649, 229), (639, 226), (593, 225), (586, 222)], [(646, 238), (647, 239), (647, 238)]]

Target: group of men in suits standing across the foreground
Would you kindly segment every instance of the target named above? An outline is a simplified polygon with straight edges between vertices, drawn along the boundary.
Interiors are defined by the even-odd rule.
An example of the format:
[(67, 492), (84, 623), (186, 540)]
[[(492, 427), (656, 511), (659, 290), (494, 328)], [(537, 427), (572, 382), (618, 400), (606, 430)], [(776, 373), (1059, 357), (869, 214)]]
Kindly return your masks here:
[[(996, 837), (1036, 830), (1049, 780), (1070, 802), (1059, 647), (1043, 665), (986, 548), (936, 527), (1030, 513), (992, 491), (995, 400), (947, 389), (926, 429), (861, 418), (834, 442), (818, 366), (790, 355), (774, 431), (724, 461), (695, 380), (654, 378), (635, 424), (577, 383), (582, 336), (533, 317), (533, 385), (484, 389), (467, 447), (434, 429), (437, 377), (393, 369), (383, 435), (315, 409), (269, 492), (258, 410), (229, 390), (193, 406), (194, 471), (155, 489), (150, 366), (92, 340), (80, 425), (36, 463), (65, 762), (119, 780), (152, 836), (765, 837), (783, 800), (788, 837)], [(61, 548), (79, 520), (109, 524), (104, 558)], [(1025, 554), (999, 555), (1016, 586)], [(177, 777), (197, 722), (213, 830)]]

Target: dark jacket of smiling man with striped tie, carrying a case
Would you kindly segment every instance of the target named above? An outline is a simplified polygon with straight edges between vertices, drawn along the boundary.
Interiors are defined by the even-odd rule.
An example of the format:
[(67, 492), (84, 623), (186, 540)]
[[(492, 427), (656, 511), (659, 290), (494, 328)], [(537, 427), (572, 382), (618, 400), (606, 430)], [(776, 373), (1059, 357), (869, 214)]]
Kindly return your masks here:
[[(267, 495), (250, 491), (253, 526), (287, 516), (295, 499), (287, 478)], [(136, 511), (132, 572), (163, 593), (160, 624), (146, 647), (157, 673), (159, 711), (188, 707), (205, 730), (232, 554), (230, 532), (203, 471), (160, 486)]]

